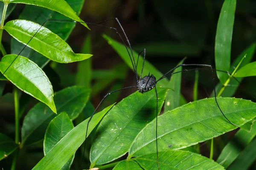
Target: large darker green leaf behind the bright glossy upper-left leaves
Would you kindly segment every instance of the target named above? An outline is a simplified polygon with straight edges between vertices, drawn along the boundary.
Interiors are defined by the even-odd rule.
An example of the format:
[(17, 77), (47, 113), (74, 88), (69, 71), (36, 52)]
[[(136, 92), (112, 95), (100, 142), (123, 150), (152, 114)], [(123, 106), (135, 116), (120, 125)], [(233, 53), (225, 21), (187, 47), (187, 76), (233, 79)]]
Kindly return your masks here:
[[(66, 0), (66, 2), (73, 8), (73, 10), (77, 14), (80, 14), (84, 0)], [(19, 16), (19, 19), (30, 20), (32, 22), (39, 23), (39, 24), (43, 24), (47, 20), (47, 22), (44, 24), (44, 27), (48, 28), (53, 33), (57, 34), (63, 40), (67, 40), (67, 37), (69, 37), (71, 31), (76, 25), (75, 22), (51, 21), (51, 20), (69, 20), (69, 18), (65, 17), (64, 15), (58, 12), (52, 11), (48, 8), (42, 8), (41, 6), (33, 6), (33, 5), (26, 5)], [(24, 45), (22, 43), (12, 38), (12, 41), (11, 41), (12, 54), (19, 54), (23, 48), (24, 48)], [(28, 47), (26, 47), (20, 55), (28, 57), (30, 60), (37, 63), (37, 65), (41, 68), (43, 68), (49, 62), (48, 58), (44, 57), (42, 54)]]

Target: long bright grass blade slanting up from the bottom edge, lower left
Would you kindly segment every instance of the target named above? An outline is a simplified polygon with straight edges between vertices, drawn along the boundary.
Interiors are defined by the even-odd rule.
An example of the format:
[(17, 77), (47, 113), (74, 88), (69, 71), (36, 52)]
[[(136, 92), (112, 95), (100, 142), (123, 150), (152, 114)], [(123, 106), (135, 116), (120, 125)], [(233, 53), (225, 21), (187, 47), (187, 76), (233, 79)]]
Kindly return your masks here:
[[(114, 104), (113, 104), (114, 105)], [(102, 117), (113, 107), (108, 106), (103, 111), (95, 114), (90, 121), (88, 134), (99, 123)], [(59, 170), (70, 157), (76, 152), (79, 146), (84, 142), (87, 122), (90, 118), (84, 120), (64, 136), (48, 153), (44, 156), (33, 170)]]

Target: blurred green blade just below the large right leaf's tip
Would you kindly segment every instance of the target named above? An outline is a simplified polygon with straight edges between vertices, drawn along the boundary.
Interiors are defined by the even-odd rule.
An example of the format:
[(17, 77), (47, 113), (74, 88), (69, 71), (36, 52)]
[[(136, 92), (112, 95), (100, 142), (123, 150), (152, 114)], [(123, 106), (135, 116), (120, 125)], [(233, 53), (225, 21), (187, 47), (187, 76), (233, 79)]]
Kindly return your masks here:
[[(252, 120), (250, 122), (255, 121)], [(251, 125), (250, 122), (247, 122), (244, 125)], [(243, 126), (244, 126), (243, 125)], [(224, 147), (221, 151), (220, 156), (217, 159), (218, 164), (221, 164), (223, 167), (227, 168), (232, 164), (234, 160), (241, 154), (245, 147), (253, 140), (256, 136), (256, 125), (252, 125), (250, 131), (239, 129), (233, 139)]]

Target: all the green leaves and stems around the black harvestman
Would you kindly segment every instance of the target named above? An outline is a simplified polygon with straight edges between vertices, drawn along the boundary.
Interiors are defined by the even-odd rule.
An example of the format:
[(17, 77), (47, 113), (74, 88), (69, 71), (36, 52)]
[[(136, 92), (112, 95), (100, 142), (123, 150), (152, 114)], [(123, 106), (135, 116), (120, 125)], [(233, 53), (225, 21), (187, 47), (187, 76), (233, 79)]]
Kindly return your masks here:
[[(93, 105), (97, 106), (103, 97), (100, 93), (105, 92), (110, 85), (113, 85), (113, 88), (108, 88), (107, 92), (126, 87), (124, 80), (128, 77), (128, 68), (133, 70), (125, 45), (113, 38), (116, 31), (111, 30), (112, 36), (106, 33), (100, 39), (105, 39), (109, 44), (107, 48), (112, 47), (125, 64), (118, 63), (108, 71), (95, 70), (92, 69), (92, 59), (96, 57), (90, 58), (92, 55), (87, 53), (96, 54), (100, 51), (104, 54), (103, 50), (93, 49), (95, 35), (90, 34), (85, 37), (81, 45), (81, 53), (84, 54), (73, 52), (72, 48), (77, 51), (77, 47), (73, 47), (71, 42), (66, 42), (75, 27), (73, 21), (81, 23), (83, 30), (88, 28), (87, 24), (78, 17), (84, 0), (1, 1), (3, 3), (0, 6), (2, 9), (0, 37), (3, 36), (3, 30), (13, 37), (9, 45), (11, 54), (6, 53), (8, 45), (4, 42), (1, 43), (0, 49), (3, 54), (0, 61), (0, 71), (3, 74), (0, 78), (2, 80), (0, 90), (3, 93), (0, 97), (1, 110), (4, 111), (5, 108), (15, 110), (15, 121), (12, 120), (15, 122), (14, 128), (4, 127), (8, 130), (0, 131), (1, 168), (68, 170), (79, 169), (81, 165), (83, 168), (151, 170), (157, 169), (159, 163), (160, 170), (193, 168), (222, 170), (235, 167), (248, 169), (255, 161), (254, 149), (251, 148), (256, 136), (254, 125), (256, 103), (248, 98), (232, 97), (238, 87), (243, 85), (241, 81), (244, 77), (256, 75), (256, 64), (250, 62), (256, 48), (254, 41), (247, 44), (248, 47), (243, 47), (239, 55), (235, 53), (238, 57), (233, 56), (235, 14), (237, 10), (241, 10), (236, 0), (225, 0), (221, 3), (218, 1), (219, 6), (215, 7), (218, 9), (216, 10), (219, 15), (218, 23), (212, 24), (209, 30), (216, 35), (214, 38), (209, 38), (213, 41), (209, 50), (212, 51), (209, 52), (211, 59), (206, 59), (210, 63), (204, 64), (211, 64), (214, 58), (216, 70), (207, 66), (200, 67), (195, 79), (190, 78), (193, 84), (195, 81), (193, 102), (188, 103), (185, 99), (181, 81), (183, 76), (180, 72), (191, 73), (195, 71), (195, 67), (183, 66), (175, 69), (173, 73), (177, 74), (171, 75), (170, 79), (165, 77), (157, 82), (155, 88), (158, 105), (156, 105), (155, 89), (144, 94), (137, 91), (127, 97), (122, 96), (125, 91), (122, 90), (109, 95), (100, 105), (99, 113), (96, 113), (92, 119), (90, 116), (94, 111)], [(16, 12), (14, 9), (19, 3), (26, 4), (19, 19), (8, 20), (4, 24), (7, 17)], [(95, 2), (87, 2), (84, 5), (86, 11), (90, 11), (89, 7), (96, 6), (93, 3)], [(148, 3), (142, 0), (138, 4), (140, 9), (138, 16), (142, 23), (144, 14), (147, 14), (144, 7)], [(152, 26), (148, 27), (149, 33), (145, 32), (148, 38), (152, 38), (151, 42), (132, 47), (135, 50), (145, 47), (146, 56), (165, 56), (163, 67), (153, 64), (154, 60), (151, 58), (145, 60), (143, 76), (150, 73), (158, 79), (175, 65), (190, 63), (191, 55), (195, 56), (199, 51), (208, 48), (204, 44), (207, 27), (202, 22), (205, 20), (202, 14), (205, 11), (191, 11), (191, 7), (187, 7), (191, 2), (187, 2), (182, 8), (195, 16), (200, 11), (199, 14), (202, 16), (199, 17), (200, 22), (192, 20), (192, 25), (189, 25), (188, 20), (190, 21), (191, 18), (188, 16), (185, 20), (173, 17), (177, 11), (170, 11), (164, 6), (165, 3), (169, 4), (167, 0), (161, 3), (152, 0), (150, 3), (156, 14), (162, 18), (162, 24), (157, 25), (157, 29), (161, 27), (165, 29), (160, 31), (160, 36), (157, 38), (164, 40), (167, 36), (163, 34), (168, 33), (175, 40), (157, 42), (150, 32), (156, 28)], [(198, 3), (200, 5), (197, 8), (203, 9), (203, 3)], [(208, 7), (208, 17), (214, 20), (215, 15), (212, 10), (215, 8), (209, 8), (212, 5), (210, 1), (206, 1), (205, 5)], [(114, 8), (113, 6), (111, 7), (111, 3), (108, 4), (110, 9)], [(195, 16), (194, 19), (198, 18)], [(175, 27), (171, 23), (176, 23)], [(95, 28), (97, 27), (91, 30)], [(122, 33), (121, 31), (119, 32)], [(76, 31), (73, 34), (76, 34)], [(102, 44), (99, 43), (99, 46)], [(133, 55), (136, 61), (138, 57), (137, 72), (140, 75), (143, 57), (138, 56), (135, 51)], [(173, 67), (166, 62), (168, 55), (176, 56), (177, 62), (172, 63)], [(183, 59), (177, 57), (184, 55), (189, 56)], [(232, 57), (235, 58), (233, 61)], [(105, 58), (112, 61), (110, 55), (106, 55)], [(67, 64), (70, 62), (77, 64)], [(102, 63), (107, 65), (107, 62), (103, 61), (100, 61), (99, 65), (102, 66)], [(197, 63), (193, 60), (192, 64)], [(70, 73), (67, 70), (70, 66), (71, 68), (77, 66), (78, 69)], [(200, 72), (201, 70), (203, 73)], [(206, 72), (209, 72), (207, 77)], [(216, 91), (212, 91), (215, 73), (220, 82), (215, 86)], [(200, 80), (201, 76), (204, 77), (203, 81)], [(201, 84), (210, 87), (211, 98), (198, 100), (202, 98), (199, 90)], [(10, 86), (14, 87), (13, 91), (6, 90)], [(114, 105), (120, 96), (122, 100)], [(223, 114), (234, 125), (228, 122)], [(88, 121), (90, 123), (87, 127)], [(20, 122), (22, 125), (19, 125)], [(232, 140), (227, 140), (227, 136), (221, 136), (237, 128), (240, 129), (233, 132), (235, 135)], [(85, 136), (87, 129), (88, 133)], [(217, 136), (220, 137), (215, 138)], [(87, 143), (84, 146), (82, 143), (85, 138)], [(201, 142), (212, 145), (207, 153), (202, 151), (205, 146), (202, 146)], [(212, 156), (207, 158), (209, 152), (212, 153), (213, 158)], [(243, 166), (244, 161), (247, 163), (246, 166)]]

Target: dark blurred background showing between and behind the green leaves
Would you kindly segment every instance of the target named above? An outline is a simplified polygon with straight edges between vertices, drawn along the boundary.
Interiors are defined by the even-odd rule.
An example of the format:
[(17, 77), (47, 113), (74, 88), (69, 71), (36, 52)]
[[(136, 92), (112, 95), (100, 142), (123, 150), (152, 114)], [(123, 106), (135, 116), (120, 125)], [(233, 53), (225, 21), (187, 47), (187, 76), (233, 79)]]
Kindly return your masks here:
[[(186, 64), (208, 64), (215, 68), (215, 33), (223, 2), (224, 0), (85, 0), (80, 17), (89, 23), (101, 23), (117, 17), (131, 42), (132, 48), (137, 52), (146, 48), (146, 59), (164, 74), (175, 67), (184, 57), (187, 57), (184, 62)], [(23, 7), (24, 5), (19, 4), (8, 20), (17, 19)], [(115, 20), (102, 23), (102, 25), (119, 29), (119, 25)], [(122, 77), (114, 77), (113, 79), (109, 79), (109, 81), (108, 79), (102, 81), (100, 88), (95, 87), (99, 79), (94, 74), (90, 84), (96, 92), (93, 93), (90, 101), (96, 107), (102, 97), (109, 91), (136, 85), (136, 81), (134, 80), (133, 71), (123, 64), (122, 59), (102, 37), (102, 34), (107, 34), (121, 42), (115, 31), (99, 26), (88, 26), (91, 29), (90, 31), (81, 24), (76, 24), (76, 28), (67, 40), (73, 51), (79, 53), (82, 50), (85, 38), (90, 35), (92, 43), (91, 54), (93, 54), (92, 70), (105, 70), (106, 72), (119, 71), (123, 73)], [(237, 0), (231, 63), (245, 48), (255, 42), (255, 33), (256, 1)], [(8, 35), (3, 37), (3, 42), (9, 42)], [(254, 60), (255, 57), (253, 58)], [(77, 65), (77, 62), (62, 65), (63, 68), (66, 68), (68, 74), (65, 82), (62, 81), (63, 79), (58, 74), (54, 74), (55, 76), (52, 78), (47, 74), (52, 82), (54, 91), (75, 84), (68, 76), (76, 74)], [(49, 68), (45, 67), (44, 71), (47, 73)], [(51, 73), (51, 75), (53, 74)], [(199, 98), (210, 96), (214, 86), (212, 79), (213, 77), (210, 71), (199, 72)], [(193, 100), (194, 81), (195, 72), (192, 71), (183, 74), (181, 93), (188, 102)], [(255, 101), (255, 83), (256, 80), (254, 77), (244, 78), (234, 96)], [(8, 95), (8, 92), (11, 90), (6, 88), (5, 91)], [(102, 105), (102, 108), (113, 102), (120, 101), (132, 92), (132, 90), (129, 90), (122, 91), (122, 93), (117, 93), (116, 95), (113, 94), (113, 97), (110, 97)], [(31, 107), (37, 102), (34, 99), (32, 100)], [(0, 114), (3, 119), (2, 121), (0, 120), (0, 132), (14, 136), (12, 135), (15, 130), (13, 100), (10, 99), (6, 102), (5, 99), (5, 102), (1, 103), (1, 108)], [(215, 150), (217, 150), (214, 156), (215, 159), (234, 133), (228, 133), (224, 137), (224, 143), (217, 142), (215, 144)], [(220, 139), (216, 140), (218, 141)], [(32, 160), (29, 162), (26, 161), (27, 167), (33, 167), (41, 159), (43, 153), (41, 153), (39, 146), (41, 145), (38, 144), (38, 146), (35, 145), (28, 148), (28, 158), (32, 158)], [(209, 157), (207, 144), (202, 144), (201, 150), (203, 155)], [(26, 155), (26, 153), (23, 154)], [(22, 161), (21, 159), (20, 164), (22, 164)], [(11, 159), (9, 161), (5, 160), (4, 163), (10, 164)], [(251, 168), (253, 169), (254, 166), (255, 164)], [(22, 167), (20, 168), (22, 169)]]

